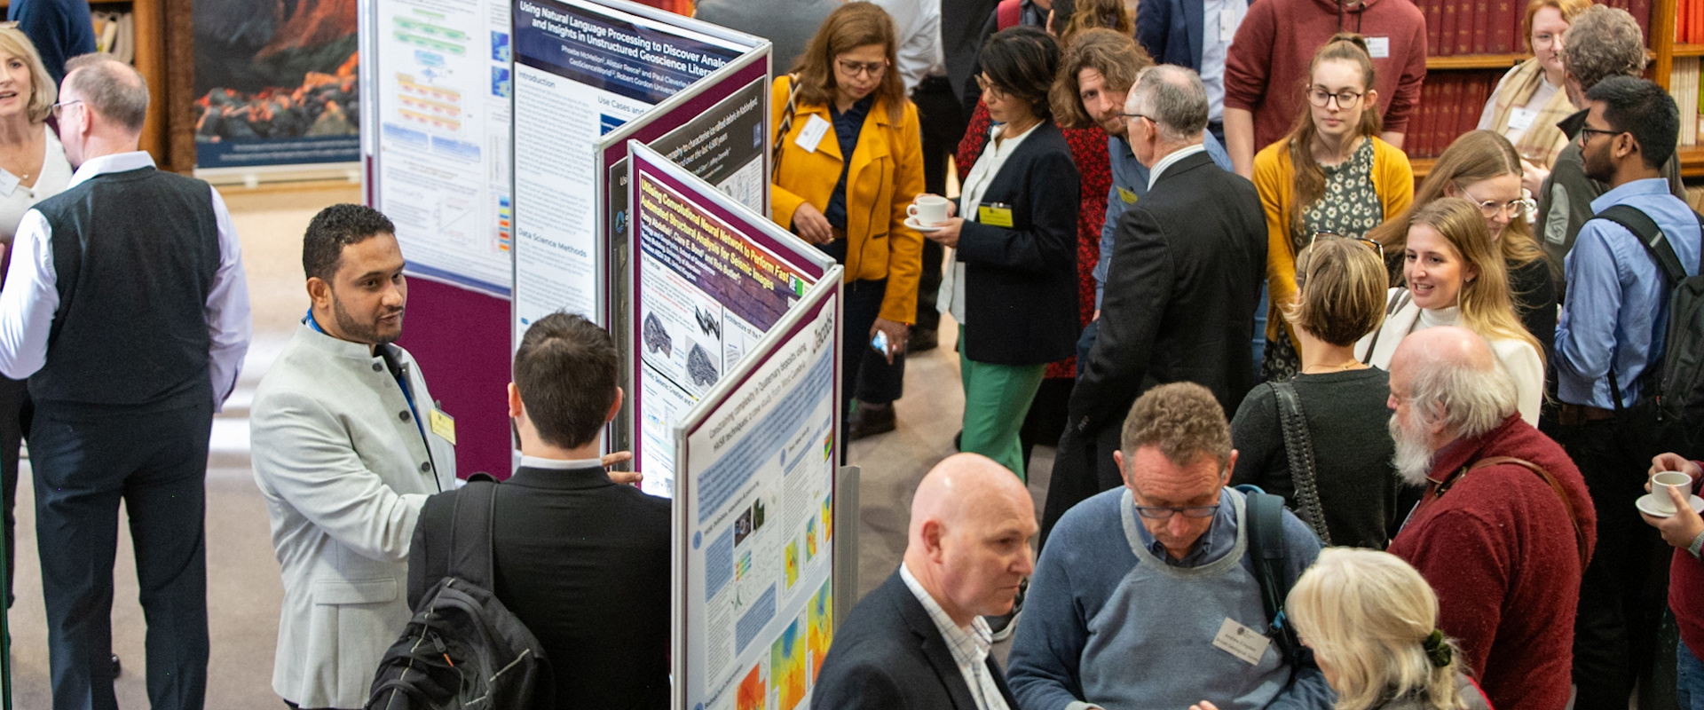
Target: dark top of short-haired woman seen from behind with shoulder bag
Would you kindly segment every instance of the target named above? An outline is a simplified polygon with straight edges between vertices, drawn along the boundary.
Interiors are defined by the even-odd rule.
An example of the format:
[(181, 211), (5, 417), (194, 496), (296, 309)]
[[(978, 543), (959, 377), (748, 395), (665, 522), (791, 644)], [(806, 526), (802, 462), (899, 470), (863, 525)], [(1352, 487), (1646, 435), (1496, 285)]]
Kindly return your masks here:
[[(1319, 504), (1333, 545), (1384, 550), (1408, 509), (1397, 502), (1401, 482), (1390, 467), (1390, 375), (1379, 368), (1292, 380), (1314, 443)], [(1285, 453), (1283, 424), (1271, 386), (1259, 385), (1242, 398), (1230, 421), (1237, 468), (1230, 484), (1254, 484), (1283, 495), (1292, 511), (1295, 482)], [(1418, 497), (1406, 497), (1416, 501)]]

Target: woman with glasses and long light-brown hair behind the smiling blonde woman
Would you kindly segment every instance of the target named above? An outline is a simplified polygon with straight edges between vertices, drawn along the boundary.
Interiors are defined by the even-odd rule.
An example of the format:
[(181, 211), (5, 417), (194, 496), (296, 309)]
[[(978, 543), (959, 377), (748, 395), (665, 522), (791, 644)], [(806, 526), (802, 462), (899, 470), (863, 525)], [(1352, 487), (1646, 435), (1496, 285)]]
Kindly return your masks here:
[[(1532, 201), (1522, 198), (1522, 160), (1510, 141), (1493, 131), (1469, 131), (1450, 143), (1414, 192), (1414, 209), (1438, 198), (1465, 198), (1486, 218), (1491, 243), (1508, 271), (1515, 315), (1539, 339), (1546, 361), (1556, 342), (1556, 269), (1527, 223)], [(1384, 245), (1390, 281), (1402, 279), (1408, 247), (1406, 215), (1368, 233)]]

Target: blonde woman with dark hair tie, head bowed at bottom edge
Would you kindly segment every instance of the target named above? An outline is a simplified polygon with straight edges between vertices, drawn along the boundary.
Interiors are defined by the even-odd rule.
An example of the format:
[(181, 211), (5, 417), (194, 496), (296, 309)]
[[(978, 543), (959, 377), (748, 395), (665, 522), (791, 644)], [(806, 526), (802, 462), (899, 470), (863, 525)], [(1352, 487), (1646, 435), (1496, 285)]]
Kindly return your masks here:
[(1438, 594), (1402, 558), (1333, 547), (1285, 603), (1338, 710), (1489, 710), (1465, 657), (1438, 630)]

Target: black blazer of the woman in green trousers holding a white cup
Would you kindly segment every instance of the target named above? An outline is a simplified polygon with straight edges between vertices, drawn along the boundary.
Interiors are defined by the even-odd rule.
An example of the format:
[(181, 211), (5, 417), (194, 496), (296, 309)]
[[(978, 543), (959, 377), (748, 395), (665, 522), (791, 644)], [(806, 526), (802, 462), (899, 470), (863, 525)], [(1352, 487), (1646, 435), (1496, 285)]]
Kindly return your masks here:
[(964, 354), (978, 363), (1077, 352), (1077, 163), (1053, 121), (1033, 131), (982, 194), (982, 204), (1012, 208), (1012, 226), (966, 220), (954, 250), (964, 262)]

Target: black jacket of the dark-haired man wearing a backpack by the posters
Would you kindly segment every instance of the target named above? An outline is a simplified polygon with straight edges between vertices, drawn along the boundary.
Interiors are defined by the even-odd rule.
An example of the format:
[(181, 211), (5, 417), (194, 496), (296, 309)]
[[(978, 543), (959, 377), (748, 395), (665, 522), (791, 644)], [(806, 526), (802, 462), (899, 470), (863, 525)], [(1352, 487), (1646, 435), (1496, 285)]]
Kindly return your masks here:
[[(424, 530), (448, 530), (457, 490), (426, 499), (409, 555), (409, 608), (436, 582)], [(668, 708), (668, 501), (602, 467), (521, 468), (496, 490), (498, 599), (538, 637), (556, 708)], [(448, 538), (443, 533), (441, 538)]]

